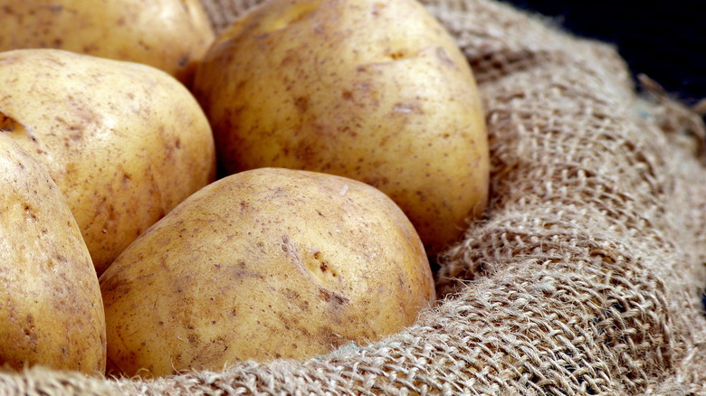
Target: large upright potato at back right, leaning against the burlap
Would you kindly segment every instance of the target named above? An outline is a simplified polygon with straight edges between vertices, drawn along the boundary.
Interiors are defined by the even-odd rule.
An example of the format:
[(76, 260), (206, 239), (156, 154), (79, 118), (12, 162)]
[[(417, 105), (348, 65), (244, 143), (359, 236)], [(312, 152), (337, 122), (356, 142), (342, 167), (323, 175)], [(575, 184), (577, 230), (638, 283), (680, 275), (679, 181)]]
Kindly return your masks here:
[(275, 166), (371, 184), (430, 254), (486, 206), (472, 71), (414, 0), (267, 2), (216, 39), (194, 91), (225, 173)]

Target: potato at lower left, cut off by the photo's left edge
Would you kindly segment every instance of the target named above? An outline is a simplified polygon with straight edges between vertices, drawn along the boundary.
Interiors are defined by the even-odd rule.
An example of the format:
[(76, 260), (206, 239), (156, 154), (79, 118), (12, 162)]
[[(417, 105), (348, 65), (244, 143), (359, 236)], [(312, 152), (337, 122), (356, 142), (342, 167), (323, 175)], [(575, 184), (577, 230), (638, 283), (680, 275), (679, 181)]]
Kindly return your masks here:
[(98, 277), (52, 178), (0, 116), (0, 367), (105, 371)]

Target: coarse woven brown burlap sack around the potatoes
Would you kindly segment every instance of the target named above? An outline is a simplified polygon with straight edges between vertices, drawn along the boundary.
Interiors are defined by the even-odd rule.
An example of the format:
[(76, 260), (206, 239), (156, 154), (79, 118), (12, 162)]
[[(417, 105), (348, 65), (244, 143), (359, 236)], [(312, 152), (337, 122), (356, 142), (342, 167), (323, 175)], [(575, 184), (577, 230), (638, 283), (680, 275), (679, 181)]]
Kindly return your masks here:
[[(205, 0), (222, 29), (253, 0)], [(428, 8), (482, 89), (492, 203), (443, 301), (366, 347), (156, 381), (31, 369), (2, 394), (706, 394), (701, 119), (644, 100), (612, 48), (490, 0)]]

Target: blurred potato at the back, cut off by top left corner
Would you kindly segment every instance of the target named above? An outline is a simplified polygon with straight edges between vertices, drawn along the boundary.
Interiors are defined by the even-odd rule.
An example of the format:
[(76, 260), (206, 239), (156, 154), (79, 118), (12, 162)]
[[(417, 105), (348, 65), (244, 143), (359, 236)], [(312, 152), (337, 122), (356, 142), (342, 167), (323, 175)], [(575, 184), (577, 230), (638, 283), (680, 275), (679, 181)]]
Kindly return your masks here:
[(0, 0), (0, 52), (55, 48), (136, 61), (190, 84), (214, 40), (198, 0)]

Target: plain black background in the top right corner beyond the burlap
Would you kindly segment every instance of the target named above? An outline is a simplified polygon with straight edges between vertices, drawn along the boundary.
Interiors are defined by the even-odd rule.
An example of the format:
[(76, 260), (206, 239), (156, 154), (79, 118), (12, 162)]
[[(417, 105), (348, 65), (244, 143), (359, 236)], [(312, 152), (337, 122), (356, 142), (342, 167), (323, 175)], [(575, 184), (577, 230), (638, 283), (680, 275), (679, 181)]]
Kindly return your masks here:
[(631, 71), (687, 104), (706, 98), (703, 0), (503, 0), (555, 18), (568, 31), (612, 42)]

